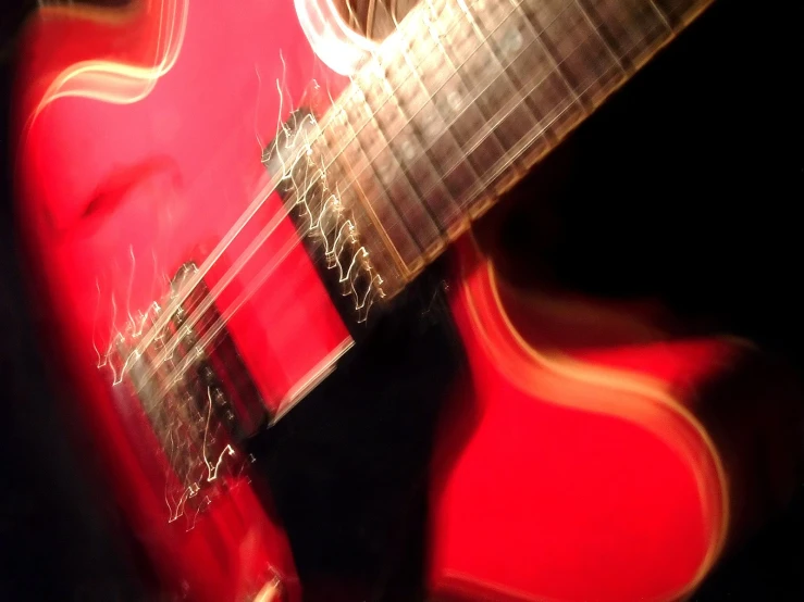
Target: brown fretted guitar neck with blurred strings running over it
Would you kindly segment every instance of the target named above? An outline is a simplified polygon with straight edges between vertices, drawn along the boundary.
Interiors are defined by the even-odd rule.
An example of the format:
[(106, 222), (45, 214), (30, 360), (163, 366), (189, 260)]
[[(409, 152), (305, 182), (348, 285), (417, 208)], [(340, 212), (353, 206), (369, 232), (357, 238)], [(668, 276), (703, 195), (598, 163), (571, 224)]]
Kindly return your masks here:
[(395, 294), (709, 0), (421, 0), (314, 145)]

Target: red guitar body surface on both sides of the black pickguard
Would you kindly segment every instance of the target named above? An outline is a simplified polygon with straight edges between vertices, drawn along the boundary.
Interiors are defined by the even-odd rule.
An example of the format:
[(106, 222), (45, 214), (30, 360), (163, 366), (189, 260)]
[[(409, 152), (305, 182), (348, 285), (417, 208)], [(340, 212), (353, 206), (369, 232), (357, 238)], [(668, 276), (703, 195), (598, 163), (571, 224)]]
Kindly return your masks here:
[[(267, 195), (261, 149), (310, 81), (334, 93), (347, 81), (316, 59), (290, 0), (219, 4), (37, 13), (18, 72), (20, 224), (46, 343), (159, 587), (198, 601), (279, 600), (279, 578), (282, 599), (296, 601), (288, 541), (248, 471), (227, 477), (206, 510), (172, 515), (160, 443), (102, 365), (165, 279), (202, 263)], [(280, 208), (270, 193), (219, 263), (233, 265)], [(296, 236), (282, 221), (218, 301), (225, 311), (282, 258), (227, 324), (272, 411), (349, 341), (304, 248), (287, 251)], [(671, 340), (635, 313), (530, 298), (463, 242), (449, 293), (470, 377), (437, 446), (430, 590), (495, 601), (683, 597), (718, 559), (734, 497), (751, 482), (735, 476), (742, 456), (729, 431), (713, 428), (723, 407), (701, 393), (749, 348)], [(224, 272), (212, 269), (208, 286)]]

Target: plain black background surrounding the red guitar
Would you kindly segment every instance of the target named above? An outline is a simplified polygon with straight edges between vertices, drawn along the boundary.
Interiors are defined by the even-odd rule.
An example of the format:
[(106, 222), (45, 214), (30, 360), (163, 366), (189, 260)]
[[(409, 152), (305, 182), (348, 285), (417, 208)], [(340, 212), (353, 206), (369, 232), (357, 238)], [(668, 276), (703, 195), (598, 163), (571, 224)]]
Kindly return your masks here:
[[(42, 376), (50, 360), (24, 293), (7, 122), (14, 35), (32, 4), (0, 8), (0, 598), (143, 600), (113, 535), (113, 506), (71, 444), (69, 413), (54, 401), (59, 384)], [(716, 2), (547, 164), (560, 163), (558, 184), (528, 195), (549, 203), (559, 226), (534, 230), (520, 216), (508, 230), (511, 247), (565, 286), (658, 294), (801, 369), (801, 13), (794, 2)], [(367, 444), (394, 442), (347, 435), (345, 446), (362, 446), (345, 452), (356, 457), (374, 453)], [(383, 459), (394, 462), (392, 452)], [(791, 507), (722, 562), (694, 599), (804, 600), (803, 493), (800, 486)], [(376, 511), (333, 521), (361, 531), (382, 519)]]

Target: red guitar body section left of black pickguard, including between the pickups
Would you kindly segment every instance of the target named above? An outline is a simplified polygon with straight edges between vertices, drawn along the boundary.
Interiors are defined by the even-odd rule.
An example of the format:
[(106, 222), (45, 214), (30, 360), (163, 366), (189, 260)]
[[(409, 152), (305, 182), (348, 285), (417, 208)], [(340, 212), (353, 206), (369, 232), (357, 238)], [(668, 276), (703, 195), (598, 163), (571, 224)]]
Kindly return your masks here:
[[(52, 7), (30, 21), (22, 50), (14, 149), (21, 226), (48, 315), (42, 329), (60, 354), (53, 363), (74, 381), (114, 498), (166, 589), (239, 601), (275, 570), (288, 600), (297, 600), (284, 532), (247, 477), (207, 512), (169, 523), (157, 439), (137, 402), (117, 400), (110, 371), (97, 366), (129, 316), (164, 294), (165, 278), (187, 260), (200, 263), (252, 200), (264, 198), (262, 146), (310, 81), (338, 80), (320, 68), (293, 0)], [(268, 198), (210, 286), (280, 203)], [(296, 239), (284, 220), (219, 309)], [(348, 339), (298, 246), (228, 329), (274, 410)]]

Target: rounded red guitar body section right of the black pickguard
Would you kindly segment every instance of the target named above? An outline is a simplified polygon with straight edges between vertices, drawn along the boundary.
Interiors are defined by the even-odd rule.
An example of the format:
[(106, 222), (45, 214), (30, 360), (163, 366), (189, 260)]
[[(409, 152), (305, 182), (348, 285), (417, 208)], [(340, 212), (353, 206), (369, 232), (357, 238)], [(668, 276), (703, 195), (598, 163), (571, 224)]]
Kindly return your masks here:
[(466, 276), (453, 310), (471, 379), (437, 442), (432, 589), (495, 602), (694, 589), (726, 537), (728, 493), (690, 403), (739, 346), (524, 300), (483, 262)]

